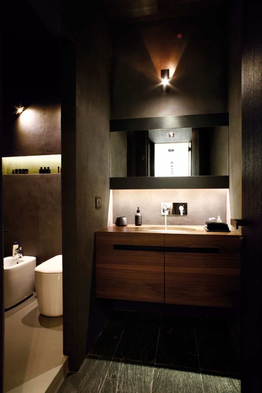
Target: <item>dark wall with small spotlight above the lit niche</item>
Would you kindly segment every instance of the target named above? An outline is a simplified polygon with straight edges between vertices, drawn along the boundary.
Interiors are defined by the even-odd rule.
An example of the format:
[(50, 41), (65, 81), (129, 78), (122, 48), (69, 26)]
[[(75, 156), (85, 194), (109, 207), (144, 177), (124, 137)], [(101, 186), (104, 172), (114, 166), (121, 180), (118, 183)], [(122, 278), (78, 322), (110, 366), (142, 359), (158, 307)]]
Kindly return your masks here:
[(59, 43), (28, 2), (4, 2), (1, 12), (3, 155), (60, 154)]

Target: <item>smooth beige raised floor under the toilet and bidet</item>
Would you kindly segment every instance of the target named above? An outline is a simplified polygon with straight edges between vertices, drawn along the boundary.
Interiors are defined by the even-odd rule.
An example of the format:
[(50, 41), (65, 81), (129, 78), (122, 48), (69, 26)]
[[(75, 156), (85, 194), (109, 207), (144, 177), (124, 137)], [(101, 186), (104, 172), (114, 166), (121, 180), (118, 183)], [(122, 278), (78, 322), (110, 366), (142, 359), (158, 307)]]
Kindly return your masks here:
[(35, 294), (5, 311), (4, 393), (54, 393), (66, 375), (63, 318), (39, 313)]

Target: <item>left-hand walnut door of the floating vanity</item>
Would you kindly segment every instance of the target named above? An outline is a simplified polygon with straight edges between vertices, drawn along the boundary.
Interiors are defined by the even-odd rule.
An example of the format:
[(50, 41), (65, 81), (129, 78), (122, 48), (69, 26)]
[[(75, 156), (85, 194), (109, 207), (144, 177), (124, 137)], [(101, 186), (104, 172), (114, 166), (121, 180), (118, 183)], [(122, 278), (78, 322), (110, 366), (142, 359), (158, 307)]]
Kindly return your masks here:
[(164, 235), (95, 233), (98, 298), (164, 302)]

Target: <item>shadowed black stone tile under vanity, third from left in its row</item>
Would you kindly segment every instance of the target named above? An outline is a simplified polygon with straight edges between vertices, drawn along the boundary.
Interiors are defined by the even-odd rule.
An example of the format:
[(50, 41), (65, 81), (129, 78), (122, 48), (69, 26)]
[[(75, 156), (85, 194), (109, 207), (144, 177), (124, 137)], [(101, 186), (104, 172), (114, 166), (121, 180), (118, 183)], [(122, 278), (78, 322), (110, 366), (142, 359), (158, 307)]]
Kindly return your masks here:
[(161, 321), (156, 363), (199, 369), (192, 318)]

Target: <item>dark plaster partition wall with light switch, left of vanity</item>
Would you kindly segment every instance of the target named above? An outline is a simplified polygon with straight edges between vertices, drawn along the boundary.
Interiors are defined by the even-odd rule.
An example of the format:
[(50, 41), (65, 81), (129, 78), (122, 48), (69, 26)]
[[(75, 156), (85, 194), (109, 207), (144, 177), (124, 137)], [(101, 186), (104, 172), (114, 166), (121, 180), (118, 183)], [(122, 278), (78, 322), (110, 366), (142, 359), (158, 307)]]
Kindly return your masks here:
[(61, 11), (75, 41), (62, 45), (61, 136), (64, 353), (77, 370), (108, 310), (95, 298), (94, 232), (108, 221), (111, 42), (103, 1)]

